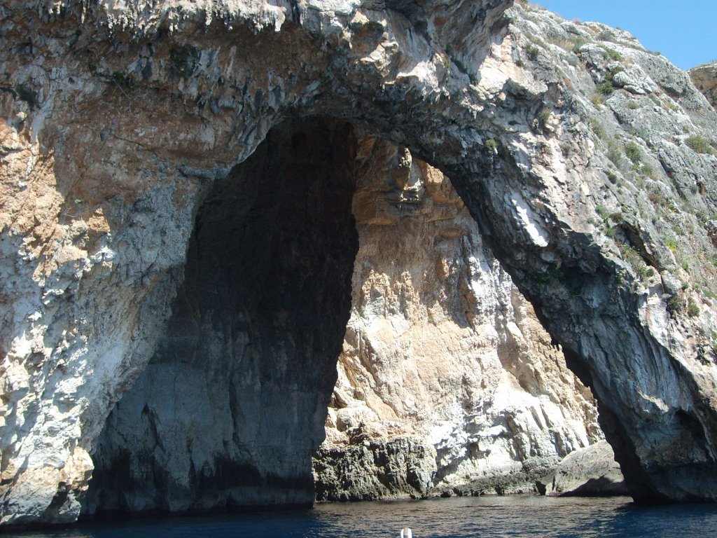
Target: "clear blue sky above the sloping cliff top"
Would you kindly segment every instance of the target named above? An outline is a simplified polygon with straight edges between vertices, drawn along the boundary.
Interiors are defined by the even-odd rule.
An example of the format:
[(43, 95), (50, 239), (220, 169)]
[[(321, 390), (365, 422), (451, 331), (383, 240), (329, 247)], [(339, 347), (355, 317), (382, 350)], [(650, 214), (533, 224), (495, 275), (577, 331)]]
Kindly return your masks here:
[(717, 60), (717, 0), (535, 0), (566, 19), (620, 27), (682, 69)]

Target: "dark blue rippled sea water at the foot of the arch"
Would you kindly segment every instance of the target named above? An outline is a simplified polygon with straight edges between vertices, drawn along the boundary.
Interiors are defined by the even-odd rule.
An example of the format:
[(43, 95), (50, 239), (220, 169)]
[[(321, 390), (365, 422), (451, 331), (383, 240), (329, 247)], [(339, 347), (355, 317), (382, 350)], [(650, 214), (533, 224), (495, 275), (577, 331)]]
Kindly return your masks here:
[(310, 510), (130, 519), (82, 524), (24, 538), (414, 538), (717, 537), (717, 504), (635, 506), (625, 497), (464, 497), (319, 504)]

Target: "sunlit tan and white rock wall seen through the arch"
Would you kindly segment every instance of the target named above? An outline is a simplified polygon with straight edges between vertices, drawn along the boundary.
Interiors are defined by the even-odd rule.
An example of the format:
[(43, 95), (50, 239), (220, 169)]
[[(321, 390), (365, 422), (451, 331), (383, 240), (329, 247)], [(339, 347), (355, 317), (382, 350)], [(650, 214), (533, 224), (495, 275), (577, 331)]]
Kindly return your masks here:
[(592, 395), (440, 171), (373, 138), (358, 162), (360, 247), (317, 499), (533, 491), (602, 438)]

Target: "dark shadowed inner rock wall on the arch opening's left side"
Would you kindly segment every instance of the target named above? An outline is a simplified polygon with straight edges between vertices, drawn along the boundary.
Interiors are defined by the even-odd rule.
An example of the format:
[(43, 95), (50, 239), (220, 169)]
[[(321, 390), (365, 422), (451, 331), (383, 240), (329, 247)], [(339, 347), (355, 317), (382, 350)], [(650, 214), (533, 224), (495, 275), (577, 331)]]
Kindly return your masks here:
[(358, 236), (348, 123), (285, 121), (217, 181), (156, 352), (108, 418), (84, 513), (310, 505)]

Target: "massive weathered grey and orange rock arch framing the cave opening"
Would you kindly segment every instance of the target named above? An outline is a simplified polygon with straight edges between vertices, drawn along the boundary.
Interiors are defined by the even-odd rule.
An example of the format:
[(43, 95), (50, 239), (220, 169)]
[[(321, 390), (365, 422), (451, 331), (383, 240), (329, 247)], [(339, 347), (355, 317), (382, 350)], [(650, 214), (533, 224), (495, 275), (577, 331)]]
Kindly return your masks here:
[(77, 518), (209, 187), (291, 115), (447, 173), (592, 388), (631, 494), (717, 498), (717, 113), (629, 34), (510, 4), (4, 2), (2, 524)]

